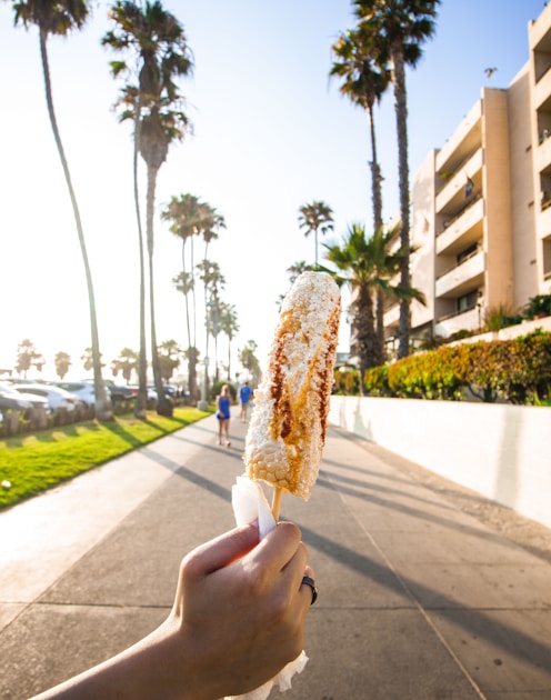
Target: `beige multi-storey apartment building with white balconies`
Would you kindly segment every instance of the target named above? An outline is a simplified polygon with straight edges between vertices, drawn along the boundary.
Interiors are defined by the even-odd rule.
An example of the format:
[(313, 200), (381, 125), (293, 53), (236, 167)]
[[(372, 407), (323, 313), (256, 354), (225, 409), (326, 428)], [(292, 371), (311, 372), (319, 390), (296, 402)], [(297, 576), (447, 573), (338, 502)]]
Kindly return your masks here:
[[(412, 338), (475, 330), (492, 309), (551, 293), (551, 6), (528, 28), (529, 61), (483, 88), (413, 178)], [(398, 306), (384, 314), (398, 328)]]

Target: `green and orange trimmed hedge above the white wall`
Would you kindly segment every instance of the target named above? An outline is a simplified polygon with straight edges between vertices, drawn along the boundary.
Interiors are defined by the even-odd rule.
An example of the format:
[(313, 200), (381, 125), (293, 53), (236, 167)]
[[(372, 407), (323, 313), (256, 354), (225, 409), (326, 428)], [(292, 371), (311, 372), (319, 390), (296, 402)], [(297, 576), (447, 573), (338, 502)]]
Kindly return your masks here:
[(447, 346), (370, 369), (363, 380), (377, 397), (539, 404), (551, 398), (551, 333)]

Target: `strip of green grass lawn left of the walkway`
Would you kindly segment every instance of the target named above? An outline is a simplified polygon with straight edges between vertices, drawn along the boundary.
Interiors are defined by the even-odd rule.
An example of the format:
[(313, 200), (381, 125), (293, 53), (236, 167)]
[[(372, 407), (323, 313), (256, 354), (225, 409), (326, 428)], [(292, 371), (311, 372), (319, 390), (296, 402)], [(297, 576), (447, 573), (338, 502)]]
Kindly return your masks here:
[(109, 423), (92, 420), (0, 439), (0, 509), (206, 416), (208, 413), (194, 408), (176, 408), (172, 418), (151, 411), (146, 420), (118, 416)]

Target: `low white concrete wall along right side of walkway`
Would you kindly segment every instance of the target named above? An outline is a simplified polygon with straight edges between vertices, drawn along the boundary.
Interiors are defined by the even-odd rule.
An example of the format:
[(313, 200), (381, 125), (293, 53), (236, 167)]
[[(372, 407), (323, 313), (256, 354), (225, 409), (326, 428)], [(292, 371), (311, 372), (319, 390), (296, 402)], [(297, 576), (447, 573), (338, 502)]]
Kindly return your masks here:
[(551, 527), (551, 409), (332, 397), (330, 422)]

